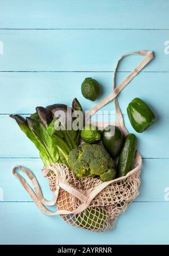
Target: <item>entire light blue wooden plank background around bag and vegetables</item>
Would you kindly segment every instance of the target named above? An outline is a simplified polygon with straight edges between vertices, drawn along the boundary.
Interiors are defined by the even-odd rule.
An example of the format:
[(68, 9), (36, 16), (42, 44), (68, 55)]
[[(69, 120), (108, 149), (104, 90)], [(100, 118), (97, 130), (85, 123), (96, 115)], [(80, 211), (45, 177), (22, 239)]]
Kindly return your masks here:
[[(168, 16), (167, 0), (1, 1), (0, 244), (168, 244), (169, 54), (164, 52)], [(155, 59), (119, 96), (130, 132), (135, 133), (126, 107), (135, 96), (148, 101), (158, 116), (154, 126), (137, 134), (144, 158), (140, 195), (108, 233), (85, 231), (60, 217), (47, 217), (12, 176), (12, 166), (29, 167), (44, 195), (52, 198), (36, 148), (8, 114), (29, 114), (37, 105), (71, 104), (74, 96), (88, 109), (93, 103), (81, 95), (83, 79), (96, 78), (104, 98), (112, 90), (117, 59), (142, 49), (153, 50)], [(126, 58), (117, 80), (140, 60)], [(109, 103), (105, 109), (114, 106)]]

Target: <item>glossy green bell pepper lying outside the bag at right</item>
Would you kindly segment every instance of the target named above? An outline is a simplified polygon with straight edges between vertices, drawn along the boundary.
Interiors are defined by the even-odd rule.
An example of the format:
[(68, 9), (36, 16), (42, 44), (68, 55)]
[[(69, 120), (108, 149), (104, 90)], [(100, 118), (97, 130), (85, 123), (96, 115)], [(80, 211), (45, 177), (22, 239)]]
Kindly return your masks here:
[(137, 133), (142, 133), (156, 120), (152, 109), (141, 99), (135, 98), (127, 107), (128, 118)]

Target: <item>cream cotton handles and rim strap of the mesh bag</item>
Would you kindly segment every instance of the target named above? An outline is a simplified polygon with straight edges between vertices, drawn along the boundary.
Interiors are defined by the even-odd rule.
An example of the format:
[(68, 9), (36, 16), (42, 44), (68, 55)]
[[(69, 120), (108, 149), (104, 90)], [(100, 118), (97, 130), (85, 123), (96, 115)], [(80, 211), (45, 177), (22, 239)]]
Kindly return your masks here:
[[(145, 56), (145, 58), (143, 60), (141, 60), (141, 62), (136, 66), (136, 68), (118, 86), (116, 86), (115, 85), (115, 76), (116, 76), (118, 64), (124, 57), (126, 57), (128, 55), (141, 55), (141, 56)], [(114, 70), (113, 92), (110, 93), (105, 99), (103, 99), (99, 103), (97, 103), (93, 108), (91, 108), (90, 111), (86, 114), (85, 119), (88, 120), (100, 108), (104, 107), (104, 105), (106, 105), (107, 103), (109, 103), (109, 101), (114, 99), (115, 111), (116, 111), (117, 120), (118, 120), (118, 126), (123, 131), (123, 134), (127, 135), (128, 131), (127, 131), (126, 127), (124, 126), (123, 116), (122, 116), (121, 110), (120, 110), (119, 105), (118, 105), (117, 95), (140, 72), (140, 70), (143, 69), (145, 67), (145, 65), (148, 64), (149, 61), (152, 60), (153, 58), (154, 58), (153, 51), (146, 51), (146, 50), (130, 52), (128, 54), (122, 55), (121, 58), (118, 60), (117, 65), (116, 65), (115, 70)], [(25, 190), (28, 192), (28, 194), (30, 195), (32, 200), (35, 202), (37, 207), (43, 213), (45, 213), (47, 215), (51, 215), (51, 216), (52, 215), (62, 215), (62, 214), (65, 214), (65, 215), (66, 214), (78, 214), (78, 213), (81, 213), (83, 210), (87, 209), (87, 207), (90, 205), (91, 201), (106, 186), (108, 186), (109, 184), (112, 184), (114, 182), (118, 182), (118, 180), (126, 179), (127, 176), (130, 176), (131, 174), (140, 170), (142, 159), (141, 159), (141, 156), (138, 152), (136, 153), (136, 160), (137, 160), (137, 163), (139, 165), (137, 165), (133, 170), (131, 170), (126, 176), (123, 176), (123, 177), (120, 177), (120, 178), (117, 178), (117, 179), (110, 180), (108, 182), (103, 182), (103, 183), (99, 184), (88, 196), (83, 195), (82, 192), (79, 192), (77, 189), (73, 188), (72, 186), (69, 186), (69, 184), (65, 184), (65, 183), (61, 182), (61, 180), (57, 179), (57, 189), (54, 192), (54, 198), (53, 198), (52, 201), (47, 201), (47, 200), (45, 200), (45, 198), (43, 198), (41, 188), (39, 187), (38, 181), (29, 169), (26, 169), (23, 166), (17, 165), (12, 170), (12, 173), (19, 179), (22, 186), (25, 188)], [(56, 176), (58, 176), (58, 171), (62, 167), (63, 167), (63, 164), (57, 164), (57, 166), (55, 165), (55, 167), (50, 166), (48, 171), (45, 170), (43, 172), (43, 175), (47, 176), (47, 174), (52, 170), (52, 171), (54, 171)], [(58, 170), (57, 170), (57, 168), (58, 168)], [(20, 169), (21, 171), (23, 171), (28, 176), (28, 178), (32, 181), (34, 191), (29, 186), (29, 184), (25, 181), (23, 176), (21, 176), (21, 174), (17, 173), (17, 171), (16, 171), (17, 169)], [(74, 195), (75, 197), (79, 198), (79, 200), (81, 200), (83, 202), (83, 204), (80, 205), (74, 211), (66, 211), (66, 210), (50, 211), (50, 210), (46, 209), (45, 206), (50, 206), (50, 205), (55, 205), (56, 204), (57, 197), (59, 195), (59, 188), (63, 188), (63, 189), (65, 189), (66, 192), (68, 192), (68, 193)]]

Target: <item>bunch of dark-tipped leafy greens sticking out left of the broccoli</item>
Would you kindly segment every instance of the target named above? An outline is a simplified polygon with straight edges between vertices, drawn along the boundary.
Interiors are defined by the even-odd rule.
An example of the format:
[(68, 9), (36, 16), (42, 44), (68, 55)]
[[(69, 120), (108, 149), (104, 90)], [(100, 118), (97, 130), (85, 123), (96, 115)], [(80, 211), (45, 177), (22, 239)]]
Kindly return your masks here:
[(54, 104), (46, 108), (37, 107), (36, 112), (26, 119), (18, 114), (10, 117), (35, 144), (45, 166), (63, 162), (69, 167), (69, 152), (79, 142), (79, 129), (72, 129), (74, 111), (67, 105)]

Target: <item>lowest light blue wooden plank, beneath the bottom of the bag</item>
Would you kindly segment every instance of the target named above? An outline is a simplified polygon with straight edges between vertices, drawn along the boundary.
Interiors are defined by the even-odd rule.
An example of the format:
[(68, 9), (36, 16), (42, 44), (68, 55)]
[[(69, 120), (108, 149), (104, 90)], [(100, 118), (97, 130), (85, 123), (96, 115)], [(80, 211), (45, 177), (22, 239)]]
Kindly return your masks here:
[[(168, 244), (168, 202), (133, 203), (107, 233), (47, 217), (33, 203), (0, 203), (0, 244)], [(155, 234), (155, 235), (154, 235)]]

